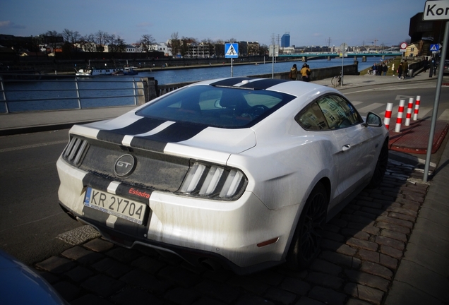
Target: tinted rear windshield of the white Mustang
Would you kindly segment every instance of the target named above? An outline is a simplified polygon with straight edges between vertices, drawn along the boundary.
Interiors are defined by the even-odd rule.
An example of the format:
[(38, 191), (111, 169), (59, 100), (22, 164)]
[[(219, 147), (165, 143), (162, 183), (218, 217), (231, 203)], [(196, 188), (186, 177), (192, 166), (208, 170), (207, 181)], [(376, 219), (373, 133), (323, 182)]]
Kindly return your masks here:
[(195, 85), (164, 95), (140, 116), (221, 128), (244, 128), (275, 112), (294, 96), (268, 90)]

